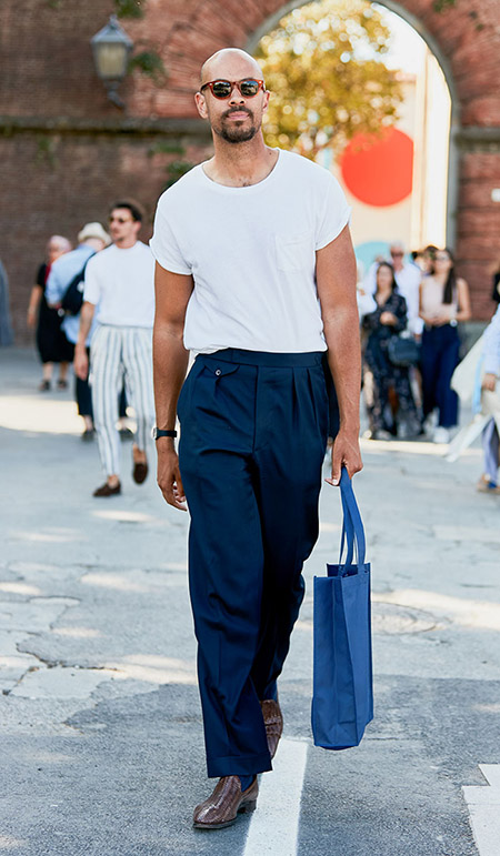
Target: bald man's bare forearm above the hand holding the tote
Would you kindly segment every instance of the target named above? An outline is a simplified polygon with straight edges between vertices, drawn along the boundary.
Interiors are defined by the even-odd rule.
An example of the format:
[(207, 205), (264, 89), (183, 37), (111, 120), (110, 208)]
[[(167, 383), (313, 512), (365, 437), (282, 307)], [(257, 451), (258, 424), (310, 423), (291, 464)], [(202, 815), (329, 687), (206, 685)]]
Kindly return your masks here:
[(361, 346), (356, 308), (339, 308), (324, 321), (328, 363), (339, 401), (340, 426), (359, 432)]

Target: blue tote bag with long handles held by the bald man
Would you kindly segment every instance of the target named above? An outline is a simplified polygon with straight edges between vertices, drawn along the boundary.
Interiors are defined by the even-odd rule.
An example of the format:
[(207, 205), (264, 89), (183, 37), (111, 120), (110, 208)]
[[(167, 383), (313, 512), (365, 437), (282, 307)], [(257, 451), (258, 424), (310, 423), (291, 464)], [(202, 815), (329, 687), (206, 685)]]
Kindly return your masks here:
[(373, 718), (370, 565), (364, 561), (363, 524), (346, 467), (340, 495), (339, 564), (327, 565), (328, 575), (314, 577), (311, 721), (314, 745), (326, 749), (358, 746)]

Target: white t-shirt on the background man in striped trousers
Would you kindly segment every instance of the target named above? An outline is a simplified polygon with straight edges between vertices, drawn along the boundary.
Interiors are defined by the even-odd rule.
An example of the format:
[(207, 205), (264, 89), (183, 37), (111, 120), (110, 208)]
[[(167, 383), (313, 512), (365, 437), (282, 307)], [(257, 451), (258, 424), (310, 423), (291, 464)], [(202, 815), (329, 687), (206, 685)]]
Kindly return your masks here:
[(83, 300), (98, 306), (100, 324), (152, 328), (154, 259), (147, 244), (129, 250), (112, 244), (92, 255), (86, 268)]

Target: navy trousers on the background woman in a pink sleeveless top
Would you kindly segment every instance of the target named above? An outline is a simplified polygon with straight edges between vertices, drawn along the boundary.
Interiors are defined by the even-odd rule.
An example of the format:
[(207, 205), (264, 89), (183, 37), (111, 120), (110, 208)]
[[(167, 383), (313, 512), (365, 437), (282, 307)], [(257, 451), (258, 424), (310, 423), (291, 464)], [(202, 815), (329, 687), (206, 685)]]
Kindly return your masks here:
[(458, 423), (458, 395), (450, 383), (459, 362), (459, 351), (456, 326), (443, 324), (423, 330), (420, 352), (423, 416), (438, 407), (442, 427), (453, 427)]

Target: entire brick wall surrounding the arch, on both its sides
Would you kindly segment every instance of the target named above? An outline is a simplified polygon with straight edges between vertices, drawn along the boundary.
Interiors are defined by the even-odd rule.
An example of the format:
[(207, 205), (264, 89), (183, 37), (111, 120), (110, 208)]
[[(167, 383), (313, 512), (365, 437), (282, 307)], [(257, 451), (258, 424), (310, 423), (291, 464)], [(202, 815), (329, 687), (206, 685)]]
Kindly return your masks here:
[[(18, 341), (26, 338), (29, 289), (47, 238), (61, 232), (74, 239), (82, 222), (106, 218), (117, 194), (136, 195), (151, 214), (167, 162), (179, 157), (151, 157), (161, 135), (124, 133), (121, 120), (196, 119), (192, 93), (202, 61), (221, 47), (244, 47), (283, 6), (282, 0), (148, 0), (147, 17), (124, 19), (122, 26), (136, 44), (161, 54), (169, 77), (156, 87), (134, 73), (121, 88), (122, 115), (106, 98), (89, 44), (112, 12), (111, 0), (63, 0), (56, 8), (48, 0), (2, 0), (0, 255), (11, 280)], [(500, 204), (491, 200), (492, 187), (500, 185), (498, 0), (457, 0), (440, 14), (432, 0), (401, 0), (400, 6), (447, 59), (462, 127), (493, 133), (488, 143), (461, 143), (458, 211), (460, 271), (470, 281), (476, 316), (487, 318), (490, 271), (500, 258)], [(21, 119), (39, 130), (20, 130)], [(59, 123), (56, 130), (52, 120)], [(110, 122), (116, 129), (83, 133), (86, 122)], [(204, 157), (198, 135), (183, 133), (183, 144), (188, 160)]]

